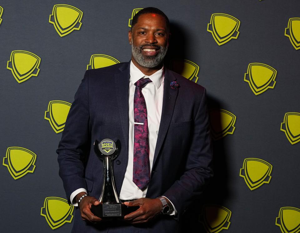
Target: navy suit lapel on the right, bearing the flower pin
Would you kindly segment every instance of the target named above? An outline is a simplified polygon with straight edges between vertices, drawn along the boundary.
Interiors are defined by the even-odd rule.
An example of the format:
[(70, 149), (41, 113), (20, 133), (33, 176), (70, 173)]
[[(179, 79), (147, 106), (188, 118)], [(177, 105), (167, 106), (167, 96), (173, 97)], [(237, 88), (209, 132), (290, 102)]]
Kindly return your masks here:
[(155, 147), (155, 153), (153, 158), (153, 166), (158, 157), (158, 154), (163, 145), (163, 141), (166, 137), (170, 121), (173, 116), (174, 106), (178, 94), (178, 89), (172, 89), (170, 83), (175, 81), (176, 78), (168, 69), (165, 69), (164, 87), (163, 87), (163, 110), (159, 125), (158, 138)]

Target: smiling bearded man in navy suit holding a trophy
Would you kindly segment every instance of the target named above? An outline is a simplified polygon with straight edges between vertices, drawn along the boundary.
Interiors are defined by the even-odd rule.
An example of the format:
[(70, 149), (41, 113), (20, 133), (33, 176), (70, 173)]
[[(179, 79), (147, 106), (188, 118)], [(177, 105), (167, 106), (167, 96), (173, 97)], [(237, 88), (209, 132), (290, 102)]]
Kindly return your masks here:
[[(164, 68), (169, 36), (167, 16), (144, 8), (128, 32), (131, 61), (85, 73), (57, 150), (67, 197), (79, 203), (72, 232), (178, 232), (212, 176), (206, 91)], [(105, 138), (122, 145), (113, 161), (118, 195), (139, 206), (124, 221), (103, 221), (90, 210), (103, 184), (93, 142)]]

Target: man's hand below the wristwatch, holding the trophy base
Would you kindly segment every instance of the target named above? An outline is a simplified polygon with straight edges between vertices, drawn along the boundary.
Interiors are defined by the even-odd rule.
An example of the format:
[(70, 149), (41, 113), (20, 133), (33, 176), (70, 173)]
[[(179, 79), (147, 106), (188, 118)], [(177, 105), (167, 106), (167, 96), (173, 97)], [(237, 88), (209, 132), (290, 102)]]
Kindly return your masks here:
[(145, 223), (159, 215), (162, 211), (162, 202), (155, 198), (140, 198), (138, 200), (124, 202), (127, 206), (139, 206), (140, 208), (128, 215), (124, 216), (124, 220), (132, 224)]

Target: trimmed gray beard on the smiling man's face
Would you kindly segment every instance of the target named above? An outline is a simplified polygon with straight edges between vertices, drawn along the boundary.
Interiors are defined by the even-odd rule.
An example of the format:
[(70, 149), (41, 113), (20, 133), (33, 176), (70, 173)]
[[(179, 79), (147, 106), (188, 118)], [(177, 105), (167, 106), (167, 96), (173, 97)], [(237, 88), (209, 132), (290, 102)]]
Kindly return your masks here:
[(145, 45), (135, 46), (135, 45), (133, 45), (133, 43), (131, 46), (133, 58), (136, 60), (136, 62), (140, 66), (147, 67), (147, 68), (153, 68), (153, 67), (157, 67), (160, 63), (163, 62), (163, 58), (167, 54), (168, 45), (166, 47), (159, 46), (159, 48), (160, 48), (159, 52), (155, 56), (144, 56), (142, 53), (143, 46), (145, 46)]

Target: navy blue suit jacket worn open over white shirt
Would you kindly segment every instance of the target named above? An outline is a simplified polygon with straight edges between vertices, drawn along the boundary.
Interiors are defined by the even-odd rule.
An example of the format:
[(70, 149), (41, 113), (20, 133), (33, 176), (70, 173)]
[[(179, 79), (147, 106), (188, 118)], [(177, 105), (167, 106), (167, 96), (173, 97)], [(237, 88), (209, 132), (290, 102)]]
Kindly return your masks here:
[[(103, 184), (103, 161), (93, 142), (119, 139), (121, 153), (113, 161), (118, 194), (128, 163), (129, 63), (87, 70), (68, 114), (57, 150), (59, 175), (67, 198), (78, 188), (99, 198)], [(170, 83), (176, 81), (178, 89)], [(118, 161), (118, 162), (117, 162)], [(146, 197), (164, 195), (181, 215), (202, 192), (212, 176), (212, 150), (206, 106), (206, 90), (165, 69), (163, 109)], [(177, 232), (178, 221), (161, 216), (142, 226), (88, 225), (75, 211), (73, 232)], [(138, 231), (139, 230), (139, 231)]]

